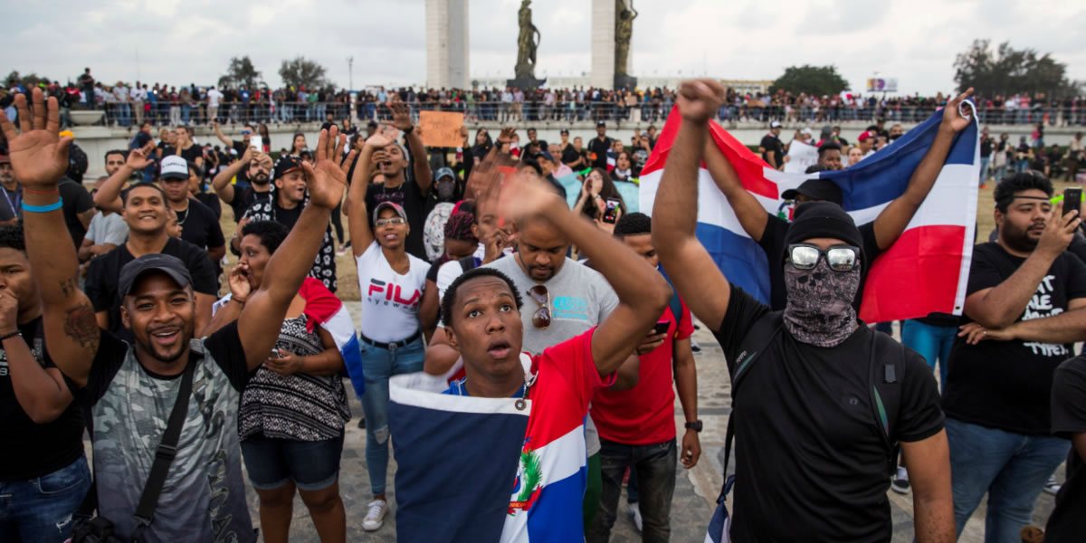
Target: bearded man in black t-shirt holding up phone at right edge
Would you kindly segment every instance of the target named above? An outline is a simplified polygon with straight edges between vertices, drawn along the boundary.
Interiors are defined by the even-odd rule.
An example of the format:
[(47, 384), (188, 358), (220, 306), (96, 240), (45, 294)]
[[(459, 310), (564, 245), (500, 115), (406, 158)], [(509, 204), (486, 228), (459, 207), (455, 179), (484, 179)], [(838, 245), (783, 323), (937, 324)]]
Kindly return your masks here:
[(943, 408), (958, 533), (988, 493), (992, 541), (1030, 523), (1070, 447), (1051, 435), (1052, 375), (1086, 340), (1086, 265), (1066, 251), (1079, 210), (1063, 214), (1051, 197), (1038, 172), (996, 186), (999, 237), (973, 248), (965, 324), (950, 352)]

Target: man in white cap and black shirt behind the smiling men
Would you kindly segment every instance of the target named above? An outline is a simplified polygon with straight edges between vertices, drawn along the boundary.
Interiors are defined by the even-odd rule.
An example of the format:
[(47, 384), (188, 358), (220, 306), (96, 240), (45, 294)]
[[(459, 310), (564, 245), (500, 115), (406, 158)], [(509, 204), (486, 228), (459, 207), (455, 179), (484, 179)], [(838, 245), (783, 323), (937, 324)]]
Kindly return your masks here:
[[(189, 195), (189, 179), (194, 175), (195, 168), (194, 165), (190, 168), (189, 163), (180, 156), (166, 156), (162, 160), (159, 186), (166, 197), (166, 204), (177, 213), (177, 223), (181, 226), (181, 239), (207, 251), (207, 257), (214, 263), (226, 254), (226, 240), (223, 238), (223, 228), (218, 225), (215, 213)], [(121, 199), (117, 198), (122, 185), (118, 181), (117, 176), (110, 177), (98, 189), (94, 204), (99, 209), (124, 212)]]

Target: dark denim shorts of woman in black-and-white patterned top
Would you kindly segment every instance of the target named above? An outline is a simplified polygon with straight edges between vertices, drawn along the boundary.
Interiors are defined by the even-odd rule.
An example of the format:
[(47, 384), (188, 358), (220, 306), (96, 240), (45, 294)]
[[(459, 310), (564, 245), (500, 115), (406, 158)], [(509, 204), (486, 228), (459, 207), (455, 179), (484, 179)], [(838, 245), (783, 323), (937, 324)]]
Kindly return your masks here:
[(241, 442), (249, 482), (256, 490), (275, 490), (288, 482), (307, 492), (331, 487), (339, 479), (343, 434), (323, 441), (253, 435)]

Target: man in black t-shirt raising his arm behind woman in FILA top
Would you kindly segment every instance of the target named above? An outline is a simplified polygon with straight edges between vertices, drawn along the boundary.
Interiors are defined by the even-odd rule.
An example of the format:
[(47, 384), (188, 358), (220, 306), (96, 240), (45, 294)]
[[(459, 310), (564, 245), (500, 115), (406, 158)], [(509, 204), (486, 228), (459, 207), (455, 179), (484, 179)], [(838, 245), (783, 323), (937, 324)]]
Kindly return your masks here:
[[(407, 213), (407, 252), (426, 260), (426, 247), (422, 230), (426, 227), (426, 199), (430, 193), (433, 179), (430, 174), (430, 163), (426, 160), (426, 147), (418, 134), (415, 134), (415, 123), (411, 119), (411, 110), (403, 102), (389, 104), (392, 110), (392, 126), (402, 130), (411, 148), (411, 159), (407, 149), (393, 141), (374, 153), (374, 163), (378, 172), (384, 176), (384, 182), (370, 184), (366, 190), (366, 209), (376, 210), (381, 202), (399, 204)], [(407, 166), (412, 166), (414, 178), (407, 177)]]

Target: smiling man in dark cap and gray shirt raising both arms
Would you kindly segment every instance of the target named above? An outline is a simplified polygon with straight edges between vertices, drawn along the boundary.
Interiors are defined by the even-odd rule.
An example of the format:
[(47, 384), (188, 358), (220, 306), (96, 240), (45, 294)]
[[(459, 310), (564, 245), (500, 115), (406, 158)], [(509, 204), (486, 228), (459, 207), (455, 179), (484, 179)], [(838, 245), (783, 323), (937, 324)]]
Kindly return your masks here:
[[(124, 296), (123, 318), (135, 332), (135, 346), (129, 346), (97, 326), (90, 301), (76, 288), (75, 249), (55, 211), (71, 140), (56, 136), (55, 99), (49, 100), (48, 125), (37, 89), (34, 102), (41, 112), (34, 130), (24, 123), (17, 134), (2, 114), (0, 127), (18, 150), (12, 157), (16, 172), (35, 191), (27, 198), (35, 209), (28, 207), (34, 213), (26, 220), (26, 245), (43, 305), (46, 348), (92, 415), (99, 516), (112, 521), (124, 541), (255, 541), (233, 420), (240, 392), (272, 352), (329, 212), (343, 193), (342, 173), (328, 159), (333, 151), (325, 140), (330, 138), (323, 135), (320, 163), (307, 169), (314, 205), (283, 241), (280, 254), (287, 256), (273, 256), (261, 289), (239, 301), (245, 308), (235, 324), (195, 339), (192, 279), (175, 257), (143, 255), (114, 275)], [(26, 99), (16, 104), (20, 117), (28, 118)], [(157, 190), (130, 189), (141, 199)], [(178, 397), (181, 389), (191, 389), (191, 396)], [(179, 412), (178, 446), (155, 451), (149, 444), (163, 440), (175, 402), (188, 407)], [(163, 454), (172, 457), (169, 484), (162, 489), (157, 514), (137, 518), (150, 466)]]

